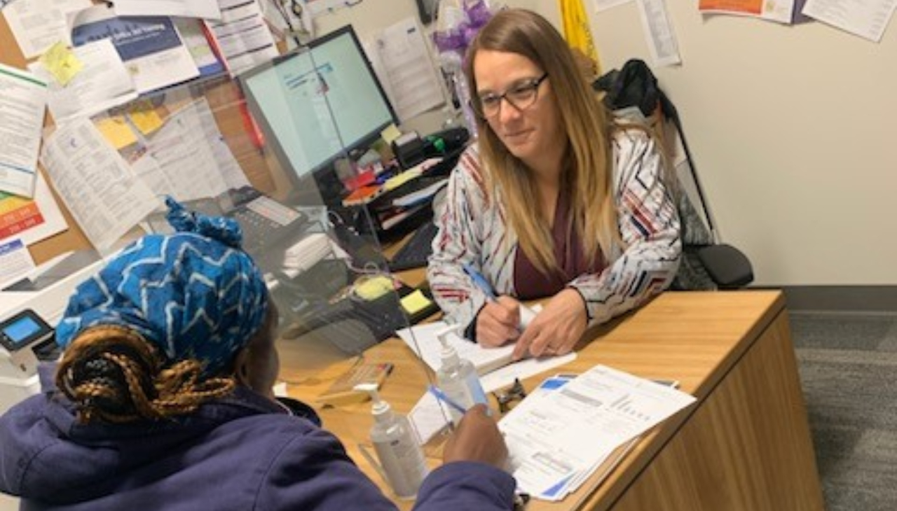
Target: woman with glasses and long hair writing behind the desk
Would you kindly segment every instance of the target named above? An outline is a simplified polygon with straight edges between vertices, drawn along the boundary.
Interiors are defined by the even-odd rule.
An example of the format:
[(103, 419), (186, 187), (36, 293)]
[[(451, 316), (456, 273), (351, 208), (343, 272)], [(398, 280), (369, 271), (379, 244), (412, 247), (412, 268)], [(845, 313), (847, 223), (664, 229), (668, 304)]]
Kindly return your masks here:
[[(466, 56), (479, 138), (449, 178), (428, 278), (469, 339), (516, 342), (517, 358), (570, 352), (679, 264), (658, 141), (615, 122), (580, 69), (550, 22), (519, 9), (496, 13)], [(547, 300), (523, 325), (530, 299)]]

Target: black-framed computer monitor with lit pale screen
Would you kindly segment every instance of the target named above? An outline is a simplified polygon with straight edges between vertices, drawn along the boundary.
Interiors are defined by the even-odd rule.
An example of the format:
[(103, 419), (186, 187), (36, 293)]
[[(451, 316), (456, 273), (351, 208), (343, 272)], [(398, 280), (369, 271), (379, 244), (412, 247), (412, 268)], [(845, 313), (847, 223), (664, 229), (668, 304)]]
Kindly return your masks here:
[(241, 75), (239, 82), (297, 187), (312, 186), (309, 176), (318, 186), (332, 181), (335, 160), (366, 150), (398, 122), (352, 25)]

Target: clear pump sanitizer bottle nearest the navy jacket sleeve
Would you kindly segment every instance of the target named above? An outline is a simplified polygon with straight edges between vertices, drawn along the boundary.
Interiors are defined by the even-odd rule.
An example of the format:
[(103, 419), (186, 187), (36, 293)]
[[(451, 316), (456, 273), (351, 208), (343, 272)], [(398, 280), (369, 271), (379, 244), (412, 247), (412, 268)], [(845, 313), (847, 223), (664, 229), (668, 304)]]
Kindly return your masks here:
[(380, 463), (378, 466), (373, 460), (369, 459), (369, 462), (384, 476), (396, 497), (414, 498), (428, 472), (417, 435), (404, 415), (395, 413), (389, 403), (380, 399), (376, 385), (360, 384), (354, 388), (368, 392), (374, 402), (370, 441)]

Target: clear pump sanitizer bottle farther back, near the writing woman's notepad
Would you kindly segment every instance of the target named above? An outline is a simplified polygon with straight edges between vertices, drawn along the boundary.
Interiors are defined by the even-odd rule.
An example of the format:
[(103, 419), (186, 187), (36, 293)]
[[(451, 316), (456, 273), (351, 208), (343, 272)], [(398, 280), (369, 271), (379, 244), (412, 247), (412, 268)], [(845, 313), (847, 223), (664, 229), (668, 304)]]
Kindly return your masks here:
[[(440, 352), (442, 365), (436, 371), (436, 385), (465, 410), (469, 410), (476, 403), (488, 406), (489, 402), (486, 400), (486, 393), (483, 392), (483, 385), (480, 384), (480, 377), (476, 374), (474, 364), (468, 359), (459, 357), (457, 350), (448, 344), (448, 335), (457, 335), (460, 328), (461, 325), (451, 325), (436, 334), (442, 343)], [(449, 413), (452, 422), (457, 426), (462, 417), (461, 412), (449, 408)]]

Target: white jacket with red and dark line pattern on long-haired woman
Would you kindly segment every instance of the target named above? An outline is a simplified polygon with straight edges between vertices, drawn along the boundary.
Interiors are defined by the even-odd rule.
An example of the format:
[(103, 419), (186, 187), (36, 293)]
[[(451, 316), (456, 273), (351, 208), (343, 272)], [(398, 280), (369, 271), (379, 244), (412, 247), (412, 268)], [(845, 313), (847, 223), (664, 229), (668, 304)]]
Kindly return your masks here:
[[(682, 244), (675, 202), (667, 188), (658, 144), (638, 129), (619, 130), (612, 140), (614, 194), (625, 249), (605, 255), (601, 273), (579, 275), (568, 287), (578, 290), (588, 308), (588, 325), (604, 323), (638, 307), (666, 289), (679, 266)], [(492, 283), (497, 295), (517, 296), (514, 264), (516, 234), (501, 205), (488, 200), (473, 144), (448, 179), (444, 205), (436, 215), (427, 277), (450, 323), (470, 325), (486, 296), (462, 270), (471, 264)]]

